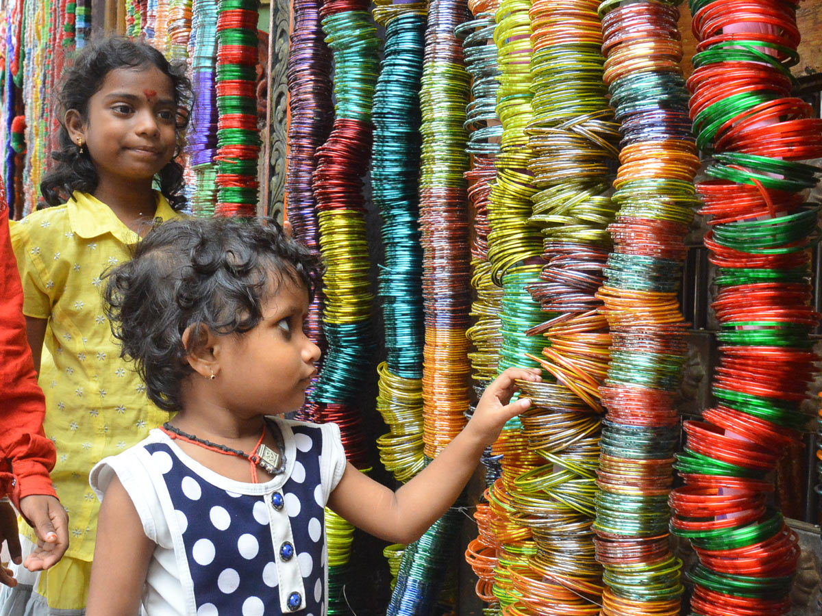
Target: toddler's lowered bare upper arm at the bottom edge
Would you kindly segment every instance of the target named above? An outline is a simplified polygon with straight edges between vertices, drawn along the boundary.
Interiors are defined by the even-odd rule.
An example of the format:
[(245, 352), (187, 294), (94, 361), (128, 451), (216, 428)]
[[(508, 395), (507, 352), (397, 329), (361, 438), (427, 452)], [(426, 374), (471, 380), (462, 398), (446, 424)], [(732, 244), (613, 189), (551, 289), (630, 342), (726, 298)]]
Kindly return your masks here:
[(155, 544), (120, 480), (113, 476), (97, 519), (86, 616), (140, 614), (145, 576)]

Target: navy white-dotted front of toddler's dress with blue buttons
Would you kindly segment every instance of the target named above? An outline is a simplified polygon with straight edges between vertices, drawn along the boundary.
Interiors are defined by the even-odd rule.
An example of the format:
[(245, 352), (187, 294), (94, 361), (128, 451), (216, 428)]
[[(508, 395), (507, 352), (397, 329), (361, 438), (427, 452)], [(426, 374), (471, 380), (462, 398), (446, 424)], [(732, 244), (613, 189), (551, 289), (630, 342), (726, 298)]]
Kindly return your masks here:
[(292, 430), (291, 476), (282, 490), (262, 496), (218, 488), (181, 462), (168, 444), (145, 445), (169, 491), (197, 616), (324, 613), (321, 430), (309, 425)]

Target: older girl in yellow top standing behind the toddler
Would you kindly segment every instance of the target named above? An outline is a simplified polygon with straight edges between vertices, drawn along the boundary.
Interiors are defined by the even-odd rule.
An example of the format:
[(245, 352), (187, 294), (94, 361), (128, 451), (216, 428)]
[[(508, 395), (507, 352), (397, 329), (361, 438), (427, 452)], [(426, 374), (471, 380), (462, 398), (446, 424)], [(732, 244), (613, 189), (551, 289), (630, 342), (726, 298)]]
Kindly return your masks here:
[[(174, 218), (185, 203), (175, 159), (190, 93), (182, 67), (120, 38), (85, 48), (64, 77), (57, 163), (40, 185), (52, 207), (15, 224), (12, 245), (46, 398), (44, 430), (57, 447), (52, 478), (69, 515), (69, 548), (47, 572), (17, 571), (20, 584), (0, 595), (3, 614), (83, 614), (98, 513), (89, 471), (168, 417), (120, 359), (100, 281), (130, 258), (155, 218)], [(36, 538), (23, 539), (25, 558)]]

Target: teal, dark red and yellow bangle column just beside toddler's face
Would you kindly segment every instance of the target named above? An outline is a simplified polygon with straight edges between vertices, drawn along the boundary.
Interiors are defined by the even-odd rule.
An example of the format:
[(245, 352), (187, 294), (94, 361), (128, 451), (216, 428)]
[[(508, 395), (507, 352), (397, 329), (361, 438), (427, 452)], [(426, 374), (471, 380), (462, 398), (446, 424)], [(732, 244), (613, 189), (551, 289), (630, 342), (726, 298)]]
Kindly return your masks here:
[[(326, 263), (322, 329), (328, 341), (311, 394), (316, 420), (339, 425), (345, 454), (367, 470), (358, 407), (369, 374), (374, 339), (372, 294), (361, 177), (372, 149), (372, 101), (379, 73), (376, 26), (366, 0), (327, 0), (320, 9), (326, 43), (334, 53), (334, 125), (316, 151), (313, 191), (319, 246)], [(348, 614), (342, 595), (353, 526), (326, 509), (329, 545), (329, 614)]]

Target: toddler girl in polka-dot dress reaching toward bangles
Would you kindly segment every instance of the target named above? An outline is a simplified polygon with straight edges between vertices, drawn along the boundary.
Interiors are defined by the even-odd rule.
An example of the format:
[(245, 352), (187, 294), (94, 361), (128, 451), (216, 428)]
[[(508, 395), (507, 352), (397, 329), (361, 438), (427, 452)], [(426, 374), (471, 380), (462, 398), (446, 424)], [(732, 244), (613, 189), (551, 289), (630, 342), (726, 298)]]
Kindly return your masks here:
[(177, 411), (99, 462), (102, 499), (89, 616), (303, 614), (326, 610), (326, 504), (409, 543), (445, 513), (510, 417), (506, 370), (468, 426), (396, 493), (345, 462), (339, 428), (286, 421), (320, 351), (303, 333), (312, 255), (272, 220), (191, 220), (149, 233), (106, 299), (149, 398)]

